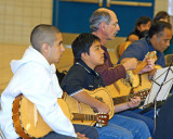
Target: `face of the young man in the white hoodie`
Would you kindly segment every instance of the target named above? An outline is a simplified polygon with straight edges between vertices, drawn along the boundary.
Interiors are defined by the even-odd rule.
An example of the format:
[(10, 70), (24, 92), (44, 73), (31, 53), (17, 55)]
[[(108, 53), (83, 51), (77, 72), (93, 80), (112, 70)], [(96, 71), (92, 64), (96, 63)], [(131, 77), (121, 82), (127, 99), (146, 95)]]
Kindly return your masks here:
[(63, 36), (62, 34), (56, 34), (56, 40), (54, 41), (53, 46), (49, 47), (49, 53), (48, 53), (48, 61), (50, 64), (52, 63), (58, 63), (63, 52), (65, 51), (65, 48), (63, 46)]

